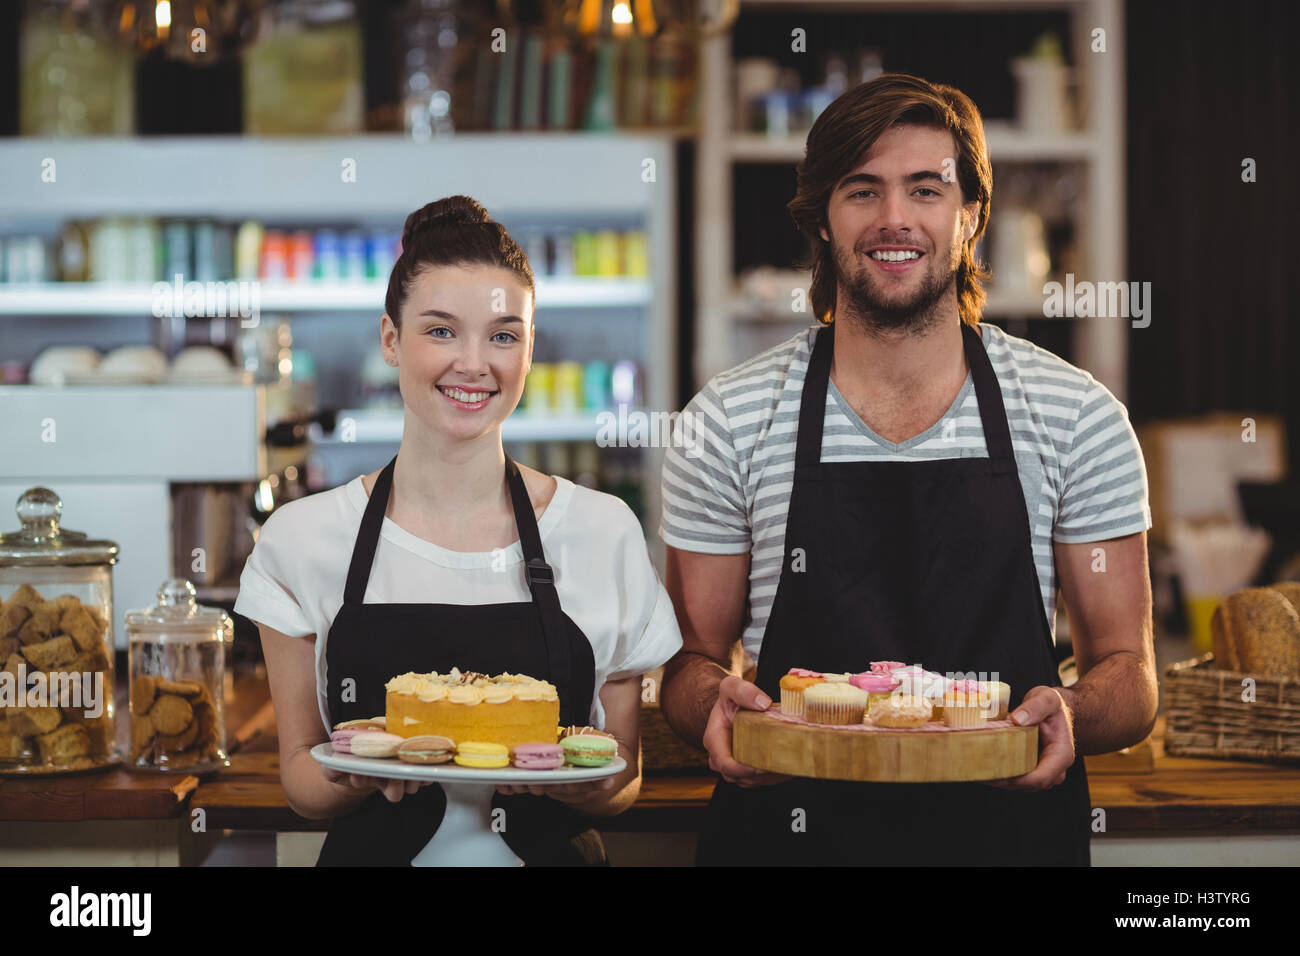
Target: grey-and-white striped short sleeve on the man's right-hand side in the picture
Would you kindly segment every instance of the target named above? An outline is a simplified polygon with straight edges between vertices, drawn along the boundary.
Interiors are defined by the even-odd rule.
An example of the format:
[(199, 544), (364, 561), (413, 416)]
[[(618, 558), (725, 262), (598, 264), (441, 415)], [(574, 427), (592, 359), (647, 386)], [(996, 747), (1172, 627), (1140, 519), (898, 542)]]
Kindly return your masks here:
[(1105, 385), (1089, 380), (1065, 464), (1052, 537), (1079, 544), (1148, 528), (1147, 466), (1128, 411)]

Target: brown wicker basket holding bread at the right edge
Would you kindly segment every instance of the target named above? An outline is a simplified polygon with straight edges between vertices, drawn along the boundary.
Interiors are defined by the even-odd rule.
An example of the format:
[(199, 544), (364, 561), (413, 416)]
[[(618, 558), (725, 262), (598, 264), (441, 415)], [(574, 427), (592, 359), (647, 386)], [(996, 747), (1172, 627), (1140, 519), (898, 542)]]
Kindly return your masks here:
[[(1242, 700), (1242, 682), (1254, 700)], [(1165, 753), (1300, 762), (1300, 680), (1217, 670), (1214, 656), (1165, 670)]]

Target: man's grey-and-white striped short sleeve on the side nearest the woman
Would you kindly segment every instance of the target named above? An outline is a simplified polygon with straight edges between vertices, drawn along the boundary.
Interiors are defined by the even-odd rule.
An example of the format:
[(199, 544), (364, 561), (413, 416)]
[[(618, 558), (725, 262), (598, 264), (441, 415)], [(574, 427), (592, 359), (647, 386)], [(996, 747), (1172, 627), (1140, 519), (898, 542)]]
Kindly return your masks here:
[(722, 395), (706, 385), (681, 412), (663, 462), (664, 544), (703, 554), (750, 548), (749, 509)]

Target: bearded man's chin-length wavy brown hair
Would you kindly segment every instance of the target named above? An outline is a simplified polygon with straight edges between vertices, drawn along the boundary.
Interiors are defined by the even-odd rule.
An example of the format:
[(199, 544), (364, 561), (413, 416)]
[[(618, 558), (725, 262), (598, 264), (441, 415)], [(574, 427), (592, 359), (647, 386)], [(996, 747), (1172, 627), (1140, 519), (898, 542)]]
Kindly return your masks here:
[(831, 243), (822, 238), (827, 204), (835, 185), (853, 172), (880, 135), (892, 126), (945, 129), (957, 144), (957, 182), (962, 202), (979, 200), (975, 233), (962, 246), (957, 267), (957, 308), (962, 321), (978, 325), (984, 310), (980, 280), (989, 272), (975, 261), (975, 243), (988, 225), (993, 196), (993, 168), (984, 142), (984, 122), (970, 96), (952, 86), (931, 83), (906, 73), (885, 73), (838, 96), (812, 124), (798, 186), (786, 208), (794, 225), (812, 242), (812, 254), (800, 268), (812, 269), (812, 313), (829, 324), (835, 317), (836, 277)]

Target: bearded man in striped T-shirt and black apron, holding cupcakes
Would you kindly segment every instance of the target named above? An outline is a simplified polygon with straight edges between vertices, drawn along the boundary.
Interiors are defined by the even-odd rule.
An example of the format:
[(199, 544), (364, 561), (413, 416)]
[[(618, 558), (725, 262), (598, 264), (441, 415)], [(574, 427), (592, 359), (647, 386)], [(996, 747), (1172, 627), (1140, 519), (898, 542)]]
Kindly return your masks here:
[[(716, 376), (663, 471), (684, 648), (662, 708), (719, 780), (701, 864), (1088, 865), (1084, 753), (1150, 731), (1147, 480), (1092, 376), (980, 325), (992, 169), (958, 90), (885, 74), (816, 121), (789, 209), (822, 323)], [(702, 454), (696, 454), (702, 453)], [(1060, 580), (1079, 682), (1057, 675)], [(741, 649), (758, 661), (740, 676)], [(994, 783), (864, 784), (738, 763), (792, 667), (984, 672), (1037, 724)], [(998, 676), (993, 676), (993, 674)]]

